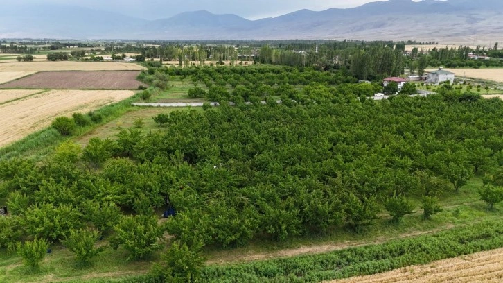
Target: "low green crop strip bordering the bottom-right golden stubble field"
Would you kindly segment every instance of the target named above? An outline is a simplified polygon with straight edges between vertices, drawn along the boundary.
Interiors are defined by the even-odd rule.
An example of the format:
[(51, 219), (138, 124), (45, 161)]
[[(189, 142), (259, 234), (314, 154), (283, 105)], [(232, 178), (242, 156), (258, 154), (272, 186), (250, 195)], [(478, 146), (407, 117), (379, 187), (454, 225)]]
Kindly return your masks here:
[[(436, 234), (397, 239), (320, 255), (206, 266), (200, 282), (321, 282), (371, 275), (503, 246), (503, 223), (482, 221)], [(151, 275), (91, 282), (161, 282)]]

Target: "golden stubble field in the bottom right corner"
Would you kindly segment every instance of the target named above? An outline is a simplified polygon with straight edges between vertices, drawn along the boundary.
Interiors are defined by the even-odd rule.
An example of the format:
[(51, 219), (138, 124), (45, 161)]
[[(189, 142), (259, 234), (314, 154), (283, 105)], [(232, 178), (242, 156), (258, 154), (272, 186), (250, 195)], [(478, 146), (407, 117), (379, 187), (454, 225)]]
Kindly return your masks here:
[(503, 248), (330, 283), (503, 282)]

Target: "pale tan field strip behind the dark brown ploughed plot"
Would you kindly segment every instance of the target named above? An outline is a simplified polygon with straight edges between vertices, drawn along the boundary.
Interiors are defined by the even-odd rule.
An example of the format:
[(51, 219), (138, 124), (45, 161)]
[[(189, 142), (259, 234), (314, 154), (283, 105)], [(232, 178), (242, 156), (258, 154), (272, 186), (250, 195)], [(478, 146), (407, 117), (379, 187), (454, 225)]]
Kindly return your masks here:
[(139, 71), (145, 67), (122, 62), (5, 62), (0, 61), (0, 71)]

